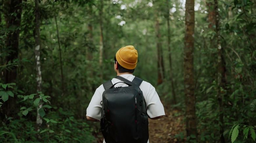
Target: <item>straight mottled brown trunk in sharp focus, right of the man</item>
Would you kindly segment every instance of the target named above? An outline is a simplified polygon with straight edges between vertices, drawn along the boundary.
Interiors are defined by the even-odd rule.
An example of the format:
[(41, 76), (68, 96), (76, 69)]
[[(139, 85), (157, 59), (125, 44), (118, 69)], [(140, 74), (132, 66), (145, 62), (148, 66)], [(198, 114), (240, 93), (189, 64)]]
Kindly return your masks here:
[(195, 82), (194, 82), (194, 31), (195, 11), (194, 0), (187, 0), (185, 4), (185, 46), (184, 46), (184, 86), (186, 104), (186, 132), (187, 136), (197, 135)]

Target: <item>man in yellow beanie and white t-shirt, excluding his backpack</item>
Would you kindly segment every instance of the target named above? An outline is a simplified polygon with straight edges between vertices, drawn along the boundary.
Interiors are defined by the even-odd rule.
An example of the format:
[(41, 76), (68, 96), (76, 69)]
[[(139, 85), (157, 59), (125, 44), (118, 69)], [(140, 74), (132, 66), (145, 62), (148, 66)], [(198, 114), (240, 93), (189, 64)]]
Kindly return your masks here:
[[(114, 69), (117, 73), (117, 76), (121, 76), (129, 81), (132, 81), (135, 76), (133, 72), (136, 68), (138, 61), (138, 52), (134, 46), (125, 46), (119, 49), (116, 53)], [(113, 84), (121, 82), (119, 79), (113, 78), (111, 80)], [(127, 87), (128, 85), (124, 83), (117, 83), (115, 87)], [(146, 106), (147, 106), (147, 115), (150, 119), (160, 119), (165, 115), (163, 105), (160, 101), (160, 98), (155, 90), (155, 88), (148, 82), (142, 81), (139, 88), (143, 92)], [(104, 91), (103, 85), (100, 85), (86, 110), (86, 118), (90, 121), (99, 121), (101, 118), (102, 105), (102, 93)], [(105, 143), (105, 141), (103, 141)], [(148, 141), (149, 143), (149, 141)]]

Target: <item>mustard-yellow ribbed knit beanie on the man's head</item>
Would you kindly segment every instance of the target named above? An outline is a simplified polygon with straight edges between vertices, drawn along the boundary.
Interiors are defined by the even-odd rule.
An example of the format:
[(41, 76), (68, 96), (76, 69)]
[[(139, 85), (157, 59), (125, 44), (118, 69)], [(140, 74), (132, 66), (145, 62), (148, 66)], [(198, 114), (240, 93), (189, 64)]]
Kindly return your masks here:
[(125, 46), (117, 51), (116, 58), (120, 66), (128, 70), (133, 70), (136, 68), (138, 61), (138, 52), (134, 46)]

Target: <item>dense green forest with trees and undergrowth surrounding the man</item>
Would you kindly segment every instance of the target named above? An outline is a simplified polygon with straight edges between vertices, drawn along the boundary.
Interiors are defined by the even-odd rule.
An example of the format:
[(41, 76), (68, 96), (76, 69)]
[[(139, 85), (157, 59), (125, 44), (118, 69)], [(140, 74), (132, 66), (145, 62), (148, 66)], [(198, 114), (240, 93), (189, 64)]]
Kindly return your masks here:
[(101, 143), (86, 108), (138, 51), (150, 143), (253, 143), (256, 0), (0, 0), (0, 142)]

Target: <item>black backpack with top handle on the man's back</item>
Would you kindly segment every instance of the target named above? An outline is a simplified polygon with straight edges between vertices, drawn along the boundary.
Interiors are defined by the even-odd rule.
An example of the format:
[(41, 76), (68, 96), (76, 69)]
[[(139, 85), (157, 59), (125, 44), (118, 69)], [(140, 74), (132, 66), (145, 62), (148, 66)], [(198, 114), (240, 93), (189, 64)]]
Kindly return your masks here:
[(147, 143), (148, 116), (146, 102), (139, 85), (142, 79), (131, 82), (121, 76), (128, 87), (115, 87), (111, 80), (103, 84), (100, 131), (106, 143)]

